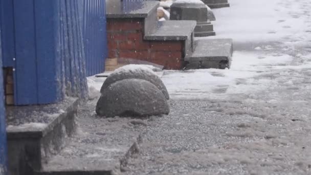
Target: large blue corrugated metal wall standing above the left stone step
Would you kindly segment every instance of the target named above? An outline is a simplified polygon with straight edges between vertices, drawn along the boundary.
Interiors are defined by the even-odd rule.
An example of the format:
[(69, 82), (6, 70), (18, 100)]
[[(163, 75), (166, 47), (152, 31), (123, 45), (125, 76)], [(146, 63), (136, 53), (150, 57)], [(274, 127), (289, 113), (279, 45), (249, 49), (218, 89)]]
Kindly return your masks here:
[(104, 71), (105, 0), (0, 0), (4, 67), (17, 105), (87, 96), (86, 75)]

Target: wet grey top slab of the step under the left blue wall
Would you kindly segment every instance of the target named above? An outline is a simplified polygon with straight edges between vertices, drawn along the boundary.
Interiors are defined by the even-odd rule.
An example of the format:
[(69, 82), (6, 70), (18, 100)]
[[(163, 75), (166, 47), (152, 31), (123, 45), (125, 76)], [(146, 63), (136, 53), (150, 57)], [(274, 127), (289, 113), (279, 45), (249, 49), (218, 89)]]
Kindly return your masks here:
[(78, 103), (77, 98), (66, 98), (56, 104), (8, 106), (6, 108), (8, 139), (45, 136)]

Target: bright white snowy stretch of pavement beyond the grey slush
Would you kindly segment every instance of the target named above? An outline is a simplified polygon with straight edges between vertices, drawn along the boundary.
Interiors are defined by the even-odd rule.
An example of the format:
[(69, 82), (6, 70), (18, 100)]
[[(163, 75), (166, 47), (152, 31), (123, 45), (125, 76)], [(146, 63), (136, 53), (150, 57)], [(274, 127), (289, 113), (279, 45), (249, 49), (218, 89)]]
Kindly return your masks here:
[(283, 83), (299, 86), (293, 74), (311, 68), (309, 1), (230, 3), (230, 8), (213, 11), (214, 38), (233, 38), (231, 69), (165, 71), (162, 79), (173, 99), (226, 99)]

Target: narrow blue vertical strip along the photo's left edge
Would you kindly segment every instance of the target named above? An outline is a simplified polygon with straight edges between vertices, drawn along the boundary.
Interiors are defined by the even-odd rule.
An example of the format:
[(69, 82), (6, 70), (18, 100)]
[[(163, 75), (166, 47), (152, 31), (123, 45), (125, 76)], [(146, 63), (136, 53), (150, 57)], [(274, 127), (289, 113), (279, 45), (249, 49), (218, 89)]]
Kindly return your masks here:
[[(2, 68), (2, 43), (0, 25), (0, 68)], [(0, 174), (7, 174), (7, 137), (6, 137), (6, 118), (4, 107), (3, 75), (0, 70)]]

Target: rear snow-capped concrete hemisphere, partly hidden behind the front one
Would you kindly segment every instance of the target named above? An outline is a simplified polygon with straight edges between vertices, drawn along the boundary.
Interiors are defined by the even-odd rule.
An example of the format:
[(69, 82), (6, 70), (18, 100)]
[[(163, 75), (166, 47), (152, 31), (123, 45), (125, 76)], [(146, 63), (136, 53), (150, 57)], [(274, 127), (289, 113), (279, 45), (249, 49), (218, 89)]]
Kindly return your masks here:
[(140, 65), (140, 64), (128, 64), (124, 65), (121, 68), (116, 69), (112, 74), (110, 74), (107, 79), (104, 81), (100, 92), (103, 93), (104, 90), (110, 85), (117, 81), (124, 79), (143, 79), (149, 81), (150, 83), (157, 86), (157, 88), (163, 93), (166, 99), (169, 99), (169, 94), (166, 90), (166, 87), (160, 77), (154, 73), (158, 71), (157, 68), (154, 68), (150, 65)]

